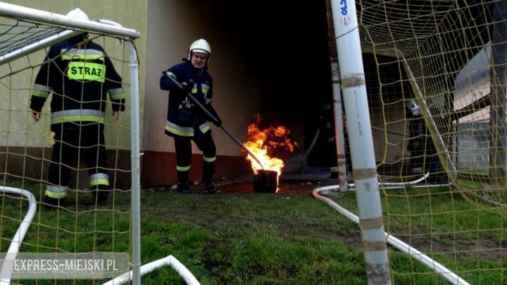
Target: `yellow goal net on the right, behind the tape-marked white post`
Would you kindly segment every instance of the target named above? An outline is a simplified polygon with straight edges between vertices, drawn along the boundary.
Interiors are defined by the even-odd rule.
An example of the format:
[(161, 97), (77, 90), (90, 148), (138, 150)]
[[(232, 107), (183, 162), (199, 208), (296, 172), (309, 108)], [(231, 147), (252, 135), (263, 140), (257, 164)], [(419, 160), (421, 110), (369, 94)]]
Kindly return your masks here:
[[(356, 4), (387, 233), (504, 283), (506, 1)], [(404, 257), (389, 249), (394, 283), (442, 282)]]

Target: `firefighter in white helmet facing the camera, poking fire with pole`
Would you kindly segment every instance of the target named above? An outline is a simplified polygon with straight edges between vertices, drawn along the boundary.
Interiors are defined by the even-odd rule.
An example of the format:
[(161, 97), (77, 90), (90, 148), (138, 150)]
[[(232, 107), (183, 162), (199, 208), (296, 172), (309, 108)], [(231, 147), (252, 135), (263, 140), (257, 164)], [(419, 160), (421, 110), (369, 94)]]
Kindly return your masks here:
[[(208, 193), (215, 193), (213, 173), (215, 171), (216, 147), (211, 135), (208, 115), (187, 97), (191, 93), (217, 121), (220, 127), (222, 121), (211, 105), (213, 98), (213, 78), (208, 73), (208, 61), (211, 47), (206, 40), (199, 39), (189, 48), (188, 59), (163, 72), (160, 80), (162, 90), (169, 90), (168, 115), (165, 124), (165, 134), (173, 137), (176, 151), (176, 171), (178, 191), (193, 193), (189, 185), (190, 162), (192, 159), (192, 144), (194, 140), (199, 150), (203, 152), (202, 182)], [(181, 83), (182, 89), (168, 78), (172, 77)]]

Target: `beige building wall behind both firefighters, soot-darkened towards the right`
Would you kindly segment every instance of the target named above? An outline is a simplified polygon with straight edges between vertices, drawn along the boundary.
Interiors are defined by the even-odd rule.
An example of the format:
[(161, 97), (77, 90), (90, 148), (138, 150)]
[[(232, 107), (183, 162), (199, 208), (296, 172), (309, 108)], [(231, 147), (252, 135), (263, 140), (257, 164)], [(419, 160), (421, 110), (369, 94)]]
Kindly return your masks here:
[[(139, 95), (141, 115), (141, 148), (146, 152), (143, 165), (146, 171), (152, 173), (150, 167), (160, 168), (162, 174), (156, 177), (144, 177), (145, 183), (158, 183), (156, 179), (163, 177), (162, 183), (167, 183), (173, 176), (174, 163), (173, 140), (163, 133), (167, 112), (168, 94), (160, 90), (159, 78), (161, 71), (180, 63), (182, 57), (187, 56), (189, 44), (203, 37), (211, 43), (213, 55), (210, 63), (210, 73), (213, 76), (214, 98), (213, 105), (224, 121), (224, 126), (240, 141), (246, 140), (246, 128), (253, 122), (254, 114), (261, 109), (261, 95), (258, 83), (246, 75), (247, 62), (242, 53), (237, 50), (239, 44), (225, 34), (223, 15), (215, 13), (217, 8), (207, 1), (123, 1), (123, 0), (82, 0), (82, 1), (6, 1), (10, 4), (36, 8), (42, 11), (60, 13), (65, 15), (74, 8), (81, 8), (90, 19), (107, 19), (120, 23), (125, 28), (139, 30), (141, 37), (135, 40), (139, 56)], [(101, 40), (108, 55), (113, 58), (128, 61), (128, 49), (122, 48), (122, 43), (116, 39)], [(44, 59), (44, 51), (38, 51), (30, 56), (33, 64), (39, 64)], [(24, 59), (26, 61), (26, 59)], [(130, 72), (127, 63), (113, 61), (115, 68), (122, 74), (125, 87), (130, 84)], [(17, 76), (14, 85), (20, 90), (11, 88), (10, 101), (0, 102), (7, 104), (4, 110), (9, 114), (2, 114), (4, 128), (0, 123), (1, 145), (11, 147), (50, 147), (49, 145), (49, 104), (46, 104), (44, 119), (33, 123), (28, 114), (30, 104), (30, 90), (38, 68), (29, 68)], [(8, 72), (8, 71), (6, 71)], [(2, 70), (1, 73), (4, 73)], [(26, 73), (26, 74), (25, 74)], [(4, 80), (2, 80), (4, 83)], [(12, 83), (8, 83), (12, 84)], [(11, 85), (12, 87), (12, 85)], [(1, 90), (4, 92), (4, 90)], [(127, 104), (129, 99), (127, 99)], [(13, 111), (18, 110), (18, 111)], [(145, 111), (146, 110), (146, 111)], [(5, 115), (5, 116), (4, 116)], [(15, 122), (15, 123), (13, 123)], [(119, 126), (130, 126), (130, 109), (125, 111), (117, 123), (108, 118), (106, 123), (116, 123)], [(117, 125), (117, 126), (118, 126)], [(231, 140), (222, 130), (212, 126), (218, 155), (223, 158), (218, 164), (217, 174), (228, 176), (248, 171), (244, 166), (248, 162), (244, 159), (241, 148)], [(6, 131), (8, 130), (8, 131)], [(106, 142), (109, 148), (130, 147), (130, 130), (127, 128), (106, 127)], [(168, 159), (160, 159), (162, 156)], [(193, 152), (200, 154), (194, 146)], [(198, 159), (199, 160), (199, 159)], [(154, 166), (160, 161), (160, 166)], [(244, 164), (244, 165), (243, 165)], [(10, 164), (12, 166), (13, 164)], [(199, 166), (196, 167), (199, 169)], [(227, 170), (232, 169), (232, 170)], [(22, 171), (21, 169), (20, 171)], [(37, 172), (37, 171), (35, 171)], [(196, 174), (199, 175), (199, 174)]]

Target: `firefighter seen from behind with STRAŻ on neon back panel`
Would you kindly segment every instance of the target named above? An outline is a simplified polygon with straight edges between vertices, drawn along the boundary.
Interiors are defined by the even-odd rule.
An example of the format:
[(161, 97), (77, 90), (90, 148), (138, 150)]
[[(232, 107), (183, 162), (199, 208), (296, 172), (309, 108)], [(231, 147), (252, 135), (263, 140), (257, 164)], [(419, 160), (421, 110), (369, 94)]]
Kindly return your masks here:
[[(89, 20), (80, 9), (67, 16)], [(44, 202), (63, 206), (70, 183), (71, 167), (80, 159), (89, 169), (89, 183), (96, 203), (104, 202), (111, 190), (106, 167), (104, 119), (107, 94), (113, 116), (125, 109), (122, 78), (99, 45), (87, 41), (87, 33), (50, 47), (35, 78), (30, 109), (37, 122), (52, 92), (51, 140), (53, 152)]]

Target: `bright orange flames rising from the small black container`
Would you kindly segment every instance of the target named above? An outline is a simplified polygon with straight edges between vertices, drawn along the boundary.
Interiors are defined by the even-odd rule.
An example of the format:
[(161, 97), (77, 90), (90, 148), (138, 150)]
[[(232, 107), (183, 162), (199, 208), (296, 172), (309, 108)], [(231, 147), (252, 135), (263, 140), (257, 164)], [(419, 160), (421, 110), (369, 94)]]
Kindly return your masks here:
[(250, 150), (255, 157), (263, 164), (263, 167), (253, 159), (250, 154), (246, 157), (251, 163), (253, 173), (257, 174), (260, 169), (277, 171), (278, 176), (282, 173), (284, 162), (277, 157), (270, 157), (270, 155), (288, 154), (297, 146), (289, 138), (290, 131), (284, 126), (269, 126), (268, 128), (259, 128), (261, 116), (256, 114), (256, 123), (252, 123), (248, 127), (248, 141), (243, 145)]

